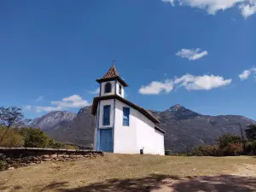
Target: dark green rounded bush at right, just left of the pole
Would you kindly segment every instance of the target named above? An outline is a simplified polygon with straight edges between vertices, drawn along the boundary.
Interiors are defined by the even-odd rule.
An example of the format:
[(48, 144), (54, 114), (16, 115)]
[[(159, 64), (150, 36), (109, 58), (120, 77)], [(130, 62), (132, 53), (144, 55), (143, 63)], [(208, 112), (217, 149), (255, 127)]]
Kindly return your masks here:
[(230, 133), (227, 133), (221, 137), (218, 137), (216, 139), (216, 142), (218, 143), (218, 147), (220, 149), (224, 149), (224, 148), (228, 147), (230, 143), (242, 143), (241, 137), (232, 135)]

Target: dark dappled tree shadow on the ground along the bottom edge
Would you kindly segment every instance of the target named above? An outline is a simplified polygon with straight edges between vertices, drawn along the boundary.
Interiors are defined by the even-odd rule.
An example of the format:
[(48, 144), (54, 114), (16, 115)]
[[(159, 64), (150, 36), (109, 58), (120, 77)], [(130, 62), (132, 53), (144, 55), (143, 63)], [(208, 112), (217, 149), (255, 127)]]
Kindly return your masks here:
[(106, 192), (106, 191), (177, 191), (177, 192), (253, 192), (256, 191), (255, 177), (239, 177), (221, 175), (213, 177), (177, 177), (169, 175), (150, 175), (143, 178), (109, 179), (100, 183), (92, 183), (86, 186), (70, 188), (68, 183), (51, 183), (44, 190), (58, 192)]

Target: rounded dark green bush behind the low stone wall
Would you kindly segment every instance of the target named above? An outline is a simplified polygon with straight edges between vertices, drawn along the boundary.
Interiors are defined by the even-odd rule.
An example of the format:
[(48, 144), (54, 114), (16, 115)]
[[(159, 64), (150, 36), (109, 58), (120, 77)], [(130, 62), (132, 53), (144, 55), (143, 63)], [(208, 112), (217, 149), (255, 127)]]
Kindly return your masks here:
[(36, 128), (25, 128), (24, 147), (26, 148), (46, 148), (48, 146), (48, 137), (42, 130)]

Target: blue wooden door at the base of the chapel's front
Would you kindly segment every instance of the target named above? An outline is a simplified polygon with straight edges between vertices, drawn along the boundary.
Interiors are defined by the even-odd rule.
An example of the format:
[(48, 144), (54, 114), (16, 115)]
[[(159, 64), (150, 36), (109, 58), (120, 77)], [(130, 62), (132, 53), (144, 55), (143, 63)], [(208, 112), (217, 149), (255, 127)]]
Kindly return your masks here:
[(100, 150), (113, 152), (112, 129), (100, 129)]

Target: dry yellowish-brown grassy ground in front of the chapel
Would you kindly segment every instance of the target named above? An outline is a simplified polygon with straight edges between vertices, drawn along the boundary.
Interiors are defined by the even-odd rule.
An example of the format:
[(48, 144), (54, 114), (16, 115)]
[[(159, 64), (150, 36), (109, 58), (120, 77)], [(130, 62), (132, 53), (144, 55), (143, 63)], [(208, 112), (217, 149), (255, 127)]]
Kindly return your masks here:
[(0, 191), (256, 191), (256, 158), (106, 154), (0, 172)]

